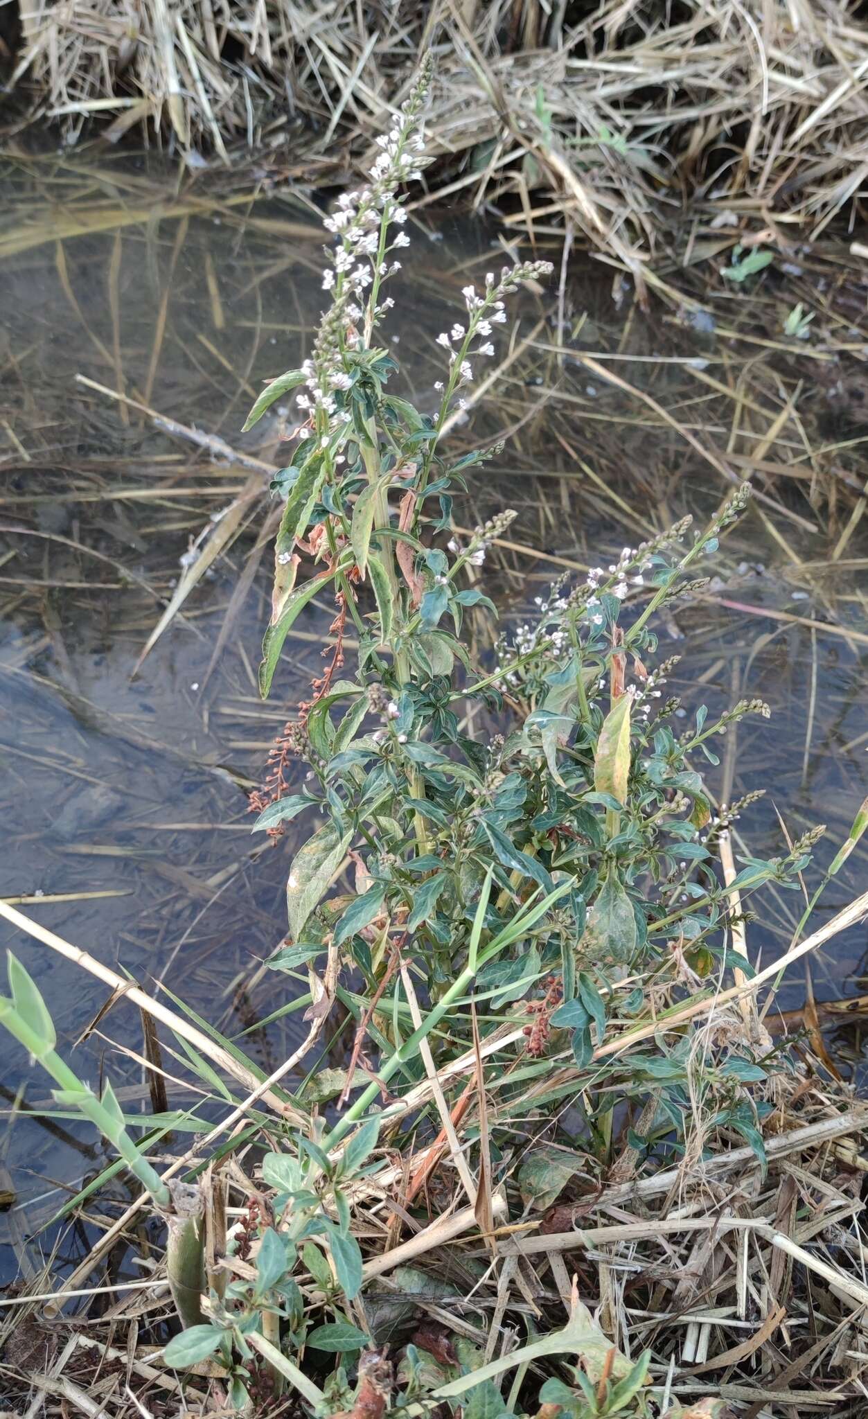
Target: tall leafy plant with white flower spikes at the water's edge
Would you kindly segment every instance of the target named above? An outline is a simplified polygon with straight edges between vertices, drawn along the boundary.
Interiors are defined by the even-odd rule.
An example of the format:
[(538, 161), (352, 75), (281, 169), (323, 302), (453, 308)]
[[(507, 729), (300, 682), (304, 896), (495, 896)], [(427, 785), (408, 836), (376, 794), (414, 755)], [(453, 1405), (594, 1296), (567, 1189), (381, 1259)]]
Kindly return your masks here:
[[(579, 586), (562, 580), (540, 602), (535, 624), (519, 627), (512, 641), (501, 637), (494, 670), (471, 663), (464, 617), (496, 612), (475, 583), (462, 587), (461, 573), (484, 562), (513, 514), (495, 517), (464, 543), (448, 535), (455, 491), (499, 447), (452, 461), (441, 434), (475, 363), (495, 350), (491, 336), (506, 319), (508, 297), (522, 282), (539, 282), (550, 265), (519, 264), (499, 277), (489, 272), (479, 291), (464, 288), (462, 318), (435, 341), (448, 360), (433, 414), (389, 393), (396, 363), (376, 333), (391, 304), (382, 292), (397, 265), (394, 248), (407, 244), (397, 189), (425, 162), (427, 82), (425, 68), (380, 140), (370, 184), (339, 199), (326, 220), (335, 247), (323, 288), (332, 304), (311, 360), (269, 383), (248, 419), (250, 427), (286, 389), (299, 389), (294, 453), (272, 484), (285, 507), (260, 671), (264, 695), (311, 597), (332, 586), (338, 607), (326, 668), (254, 795), (255, 827), (275, 837), (302, 813), (325, 819), (294, 856), (289, 937), (269, 965), (313, 969), (326, 951), (338, 951), (362, 982), (360, 993), (346, 995), (360, 1037), (367, 1034), (380, 1054), (404, 1040), (414, 1019), (413, 975), (437, 1010), (451, 1010), (472, 983), (477, 999), (491, 1002), (491, 1027), (502, 1023), (503, 1009), (530, 1015), (519, 1032), (526, 1054), (543, 1056), (552, 1039), (570, 1039), (573, 1064), (587, 1070), (613, 1032), (627, 1022), (641, 1026), (648, 993), (637, 981), (652, 982), (657, 1010), (712, 972), (749, 971), (730, 949), (732, 902), (766, 880), (790, 883), (817, 834), (783, 858), (747, 860), (735, 883), (722, 883), (715, 846), (739, 805), (715, 812), (694, 758), (715, 765), (712, 736), (769, 710), (742, 701), (706, 724), (701, 708), (695, 729), (678, 735), (674, 718), (684, 711), (662, 688), (675, 660), (645, 664), (657, 651), (654, 613), (706, 585), (691, 573), (743, 511), (747, 485), (702, 535), (684, 518), (624, 548)], [(296, 585), (302, 555), (322, 570)], [(359, 644), (352, 678), (347, 620)], [(462, 705), (486, 724), (485, 741), (464, 731)], [(495, 732), (503, 717), (506, 732)], [(298, 761), (304, 779), (294, 786)], [(329, 895), (346, 864), (355, 891)], [(407, 961), (401, 990), (394, 982)], [(372, 998), (376, 1017), (365, 1009)], [(451, 1012), (452, 1047), (465, 1047), (471, 1034), (467, 1010)], [(756, 1053), (757, 1040), (733, 1036), (728, 1047)], [(365, 1049), (357, 1037), (342, 1104), (357, 1090), (359, 1059), (369, 1063)], [(421, 1060), (408, 1064), (401, 1054), (380, 1059), (376, 1080), (335, 1125), (330, 1145), (380, 1091), (389, 1098), (394, 1074), (418, 1077)], [(613, 1147), (613, 1080), (641, 1103), (654, 1074), (650, 1056), (635, 1067), (627, 1060), (597, 1064), (599, 1100), (583, 1095), (591, 1138), (597, 1120), (607, 1120), (601, 1158)], [(681, 1138), (689, 1130), (684, 1042), (667, 1069), (669, 1084), (655, 1094), (644, 1139), (648, 1152), (671, 1128)], [(711, 1090), (712, 1127), (726, 1122), (755, 1141), (764, 1105), (736, 1076), (723, 1070)], [(389, 1117), (386, 1107), (380, 1122)]]

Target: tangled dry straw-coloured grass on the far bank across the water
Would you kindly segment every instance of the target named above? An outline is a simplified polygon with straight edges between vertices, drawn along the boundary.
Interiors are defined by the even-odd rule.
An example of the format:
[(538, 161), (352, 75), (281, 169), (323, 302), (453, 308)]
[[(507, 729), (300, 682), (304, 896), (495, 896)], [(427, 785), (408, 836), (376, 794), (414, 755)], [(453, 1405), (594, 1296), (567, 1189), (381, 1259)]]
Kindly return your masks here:
[(427, 197), (496, 203), (625, 263), (686, 204), (786, 245), (852, 213), (868, 176), (868, 28), (837, 0), (28, 0), (11, 84), (74, 142), (89, 119), (237, 162), (301, 152), (343, 180), (438, 60)]

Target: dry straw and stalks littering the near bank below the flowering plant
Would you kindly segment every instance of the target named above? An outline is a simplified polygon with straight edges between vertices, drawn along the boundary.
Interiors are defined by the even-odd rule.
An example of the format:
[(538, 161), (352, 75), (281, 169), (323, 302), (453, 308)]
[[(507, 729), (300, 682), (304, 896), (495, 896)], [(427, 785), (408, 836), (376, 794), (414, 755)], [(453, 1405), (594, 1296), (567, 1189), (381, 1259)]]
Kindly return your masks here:
[[(868, 894), (862, 894), (804, 946), (823, 945), (864, 918), (867, 908)], [(7, 908), (3, 914), (10, 915)], [(64, 954), (74, 949), (27, 918), (16, 920), (45, 946)], [(95, 964), (85, 965), (92, 969)], [(745, 988), (752, 1000), (759, 985), (757, 978)], [(155, 1010), (153, 1002), (149, 1009)], [(186, 1029), (180, 1017), (156, 1009), (169, 1029)], [(729, 1037), (740, 1032), (733, 1002), (706, 999), (702, 1010), (708, 1032)], [(701, 1159), (696, 1151), (665, 1172), (654, 1171), (652, 1161), (638, 1166), (638, 1155), (624, 1147), (600, 1178), (590, 1154), (567, 1149), (560, 1156), (572, 1161), (572, 1178), (567, 1169), (560, 1188), (552, 1188), (550, 1169), (547, 1175), (528, 1171), (553, 1132), (542, 1104), (552, 1087), (569, 1093), (570, 1080), (577, 1081), (582, 1071), (569, 1049), (557, 1050), (545, 1076), (528, 1080), (523, 1098), (511, 1095), (521, 1017), (519, 1007), (516, 1025), (511, 1029), (505, 1022), (485, 1042), (484, 1063), (474, 1051), (440, 1071), (428, 1061), (428, 1077), (410, 1090), (403, 1108), (390, 1111), (393, 1128), (400, 1128), (406, 1114), (437, 1101), (444, 1130), (433, 1145), (404, 1149), (396, 1166), (353, 1189), (353, 1226), (366, 1254), (367, 1281), (365, 1300), (352, 1307), (355, 1323), (393, 1352), (413, 1340), (434, 1371), (435, 1361), (444, 1362), (454, 1345), (469, 1340), (485, 1361), (506, 1371), (506, 1398), (513, 1379), (518, 1393), (523, 1376), (522, 1337), (529, 1321), (543, 1334), (560, 1330), (577, 1294), (583, 1307), (599, 1313), (603, 1349), (611, 1344), (633, 1358), (651, 1351), (651, 1379), (674, 1405), (713, 1395), (753, 1419), (776, 1419), (787, 1406), (840, 1419), (862, 1415), (868, 1286), (861, 1192), (868, 1159), (861, 1149), (868, 1105), (821, 1083), (806, 1056), (789, 1081), (777, 1076), (769, 1083), (767, 1165), (736, 1137), (718, 1138), (711, 1156)], [(661, 1029), (674, 1037), (678, 1017), (661, 1022)], [(197, 1043), (216, 1069), (226, 1069), (214, 1042)], [(597, 1050), (597, 1057), (603, 1053)], [(248, 1142), (261, 1138), (268, 1145), (275, 1124), (262, 1117), (258, 1100), (268, 1103), (262, 1090), (214, 1134), (237, 1131), (240, 1118), (252, 1120), (258, 1128), (247, 1135)], [(462, 1155), (455, 1154), (479, 1128), (482, 1100), (488, 1122), (506, 1127), (513, 1139), (513, 1164), (488, 1199), (494, 1225), (484, 1236), (477, 1220), (482, 1174), (477, 1178), (460, 1166)], [(640, 1120), (634, 1125), (641, 1130)], [(194, 1154), (187, 1152), (172, 1171), (196, 1161)], [(226, 1237), (228, 1226), (244, 1225), (262, 1205), (255, 1155), (248, 1152), (244, 1169), (240, 1161), (228, 1152), (208, 1169), (211, 1239)], [(135, 1246), (143, 1200), (106, 1227), (61, 1287), (45, 1269), (3, 1303), (0, 1345), (6, 1341), (9, 1399), (16, 1408), (30, 1405), (18, 1412), (35, 1415), (43, 1403), (48, 1412), (69, 1412), (62, 1403), (58, 1409), (58, 1401), (94, 1419), (176, 1412), (177, 1379), (162, 1366), (162, 1347), (153, 1342), (169, 1314), (159, 1257), (140, 1281), (119, 1283), (111, 1270), (111, 1244), (128, 1239)], [(413, 1227), (401, 1240), (410, 1210)], [(248, 1280), (254, 1264), (255, 1253), (241, 1249), (221, 1257), (218, 1250), (213, 1274)], [(302, 1266), (298, 1280), (309, 1318), (328, 1317), (329, 1300), (316, 1277)], [(72, 1300), (79, 1307), (72, 1327), (47, 1324)], [(95, 1307), (99, 1318), (91, 1317), (84, 1328), (84, 1314)], [(443, 1381), (448, 1378), (447, 1368)], [(194, 1366), (186, 1385), (189, 1412), (217, 1413), (223, 1403), (217, 1371), (208, 1362)], [(669, 1413), (665, 1402), (664, 1409)], [(255, 1412), (272, 1409), (264, 1403)]]

